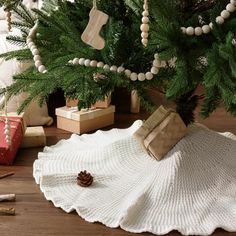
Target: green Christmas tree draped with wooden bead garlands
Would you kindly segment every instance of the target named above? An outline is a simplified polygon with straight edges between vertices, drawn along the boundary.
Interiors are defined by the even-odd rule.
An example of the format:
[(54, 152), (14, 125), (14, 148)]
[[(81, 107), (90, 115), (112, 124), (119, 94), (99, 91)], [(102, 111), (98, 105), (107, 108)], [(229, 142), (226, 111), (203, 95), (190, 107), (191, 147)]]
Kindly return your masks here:
[[(101, 29), (102, 50), (81, 39), (91, 0), (44, 1), (33, 11), (11, 5), (20, 18), (12, 24), (21, 35), (8, 40), (22, 49), (1, 57), (35, 63), (7, 88), (9, 97), (28, 92), (20, 109), (35, 97), (42, 104), (58, 88), (79, 99), (81, 108), (125, 87), (137, 90), (147, 109), (152, 108), (147, 90), (163, 92), (186, 124), (194, 121), (199, 100), (204, 117), (221, 103), (236, 115), (235, 0), (150, 0), (145, 9), (141, 0), (95, 3), (109, 16)], [(195, 95), (199, 85), (204, 93)]]

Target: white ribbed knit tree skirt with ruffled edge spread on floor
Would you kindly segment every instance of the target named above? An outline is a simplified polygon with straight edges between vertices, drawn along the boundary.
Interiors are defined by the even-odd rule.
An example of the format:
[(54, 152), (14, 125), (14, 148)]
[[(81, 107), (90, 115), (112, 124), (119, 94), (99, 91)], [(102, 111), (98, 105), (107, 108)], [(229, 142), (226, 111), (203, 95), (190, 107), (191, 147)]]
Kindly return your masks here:
[[(236, 231), (236, 137), (194, 125), (158, 162), (132, 137), (141, 124), (46, 147), (34, 163), (46, 199), (89, 222), (135, 233)], [(94, 177), (88, 188), (77, 185), (81, 170)]]

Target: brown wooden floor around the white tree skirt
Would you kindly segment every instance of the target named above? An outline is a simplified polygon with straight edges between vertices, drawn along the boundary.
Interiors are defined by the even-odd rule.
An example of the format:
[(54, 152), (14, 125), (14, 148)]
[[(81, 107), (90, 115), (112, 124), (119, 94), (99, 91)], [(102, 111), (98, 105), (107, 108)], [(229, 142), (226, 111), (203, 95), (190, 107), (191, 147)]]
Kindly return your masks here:
[[(146, 117), (146, 114), (117, 114), (115, 126), (128, 127), (134, 120)], [(203, 123), (217, 131), (231, 131), (236, 134), (236, 118), (227, 115), (223, 109), (219, 109)], [(48, 145), (70, 136), (69, 133), (55, 127), (45, 130)], [(18, 152), (14, 166), (0, 166), (0, 174), (8, 171), (15, 172), (14, 176), (0, 180), (0, 193), (17, 194), (15, 203), (0, 203), (2, 207), (15, 207), (17, 212), (13, 217), (0, 216), (0, 236), (134, 235), (121, 229), (110, 229), (98, 223), (87, 223), (75, 213), (66, 214), (46, 201), (32, 177), (32, 164), (37, 158), (37, 153), (41, 150), (40, 148), (22, 149)], [(151, 234), (143, 233), (142, 235)], [(171, 232), (168, 235), (177, 236), (180, 234)], [(219, 229), (213, 235), (233, 236), (236, 233), (227, 233)]]

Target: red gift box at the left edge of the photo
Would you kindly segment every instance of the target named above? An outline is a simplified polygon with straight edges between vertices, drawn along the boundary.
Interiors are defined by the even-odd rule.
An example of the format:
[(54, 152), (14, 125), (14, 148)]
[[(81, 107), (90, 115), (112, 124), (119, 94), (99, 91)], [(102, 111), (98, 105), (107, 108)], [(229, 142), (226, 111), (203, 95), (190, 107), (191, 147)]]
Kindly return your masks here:
[(11, 125), (11, 145), (8, 145), (5, 140), (5, 117), (0, 117), (0, 165), (12, 165), (24, 134), (23, 118), (9, 117), (9, 120)]

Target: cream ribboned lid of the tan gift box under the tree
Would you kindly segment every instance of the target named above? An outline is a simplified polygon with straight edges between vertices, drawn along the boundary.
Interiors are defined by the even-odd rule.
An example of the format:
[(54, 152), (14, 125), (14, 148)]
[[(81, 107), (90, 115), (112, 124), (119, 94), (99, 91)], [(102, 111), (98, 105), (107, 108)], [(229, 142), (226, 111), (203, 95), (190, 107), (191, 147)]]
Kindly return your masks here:
[(78, 111), (77, 107), (56, 108), (56, 115), (76, 121), (92, 120), (96, 117), (114, 113), (115, 106), (111, 105), (105, 109), (89, 109)]

